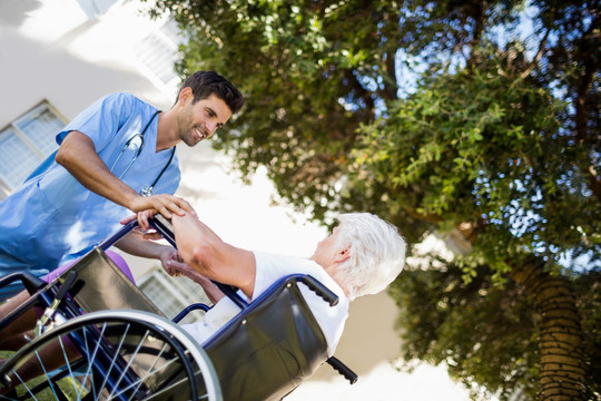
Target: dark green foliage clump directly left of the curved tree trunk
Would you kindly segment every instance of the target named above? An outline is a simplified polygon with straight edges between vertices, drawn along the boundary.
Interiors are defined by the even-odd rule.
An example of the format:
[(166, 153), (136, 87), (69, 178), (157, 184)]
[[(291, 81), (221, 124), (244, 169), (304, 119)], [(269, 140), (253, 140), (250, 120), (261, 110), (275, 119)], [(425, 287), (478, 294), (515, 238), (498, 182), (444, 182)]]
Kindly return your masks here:
[(410, 270), (391, 293), (401, 309), (404, 359), (445, 363), (452, 376), (502, 399), (515, 389), (534, 398), (538, 338), (531, 301), (513, 283), (495, 285), (491, 270), (476, 268), (470, 283), (456, 265)]

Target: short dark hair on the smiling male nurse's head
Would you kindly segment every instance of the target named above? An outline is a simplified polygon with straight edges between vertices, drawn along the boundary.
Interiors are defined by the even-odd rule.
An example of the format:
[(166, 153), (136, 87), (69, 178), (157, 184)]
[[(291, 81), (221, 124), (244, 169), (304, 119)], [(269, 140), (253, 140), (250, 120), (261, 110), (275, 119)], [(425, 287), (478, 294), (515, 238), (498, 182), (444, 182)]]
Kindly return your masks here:
[(231, 114), (238, 113), (244, 105), (244, 97), (238, 88), (215, 71), (196, 71), (188, 76), (179, 87), (178, 95), (186, 87), (191, 88), (194, 102), (215, 94), (226, 102)]

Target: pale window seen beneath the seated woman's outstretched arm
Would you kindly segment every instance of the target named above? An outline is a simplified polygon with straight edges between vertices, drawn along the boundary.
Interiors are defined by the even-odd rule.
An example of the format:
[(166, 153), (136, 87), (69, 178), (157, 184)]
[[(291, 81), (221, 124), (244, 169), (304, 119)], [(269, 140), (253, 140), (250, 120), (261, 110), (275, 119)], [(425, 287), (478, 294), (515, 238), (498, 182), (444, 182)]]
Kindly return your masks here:
[[(162, 268), (152, 270), (139, 282), (139, 288), (169, 319), (193, 303), (211, 304), (198, 284), (187, 277), (170, 277)], [(203, 312), (194, 311), (181, 323), (195, 322), (203, 315)]]

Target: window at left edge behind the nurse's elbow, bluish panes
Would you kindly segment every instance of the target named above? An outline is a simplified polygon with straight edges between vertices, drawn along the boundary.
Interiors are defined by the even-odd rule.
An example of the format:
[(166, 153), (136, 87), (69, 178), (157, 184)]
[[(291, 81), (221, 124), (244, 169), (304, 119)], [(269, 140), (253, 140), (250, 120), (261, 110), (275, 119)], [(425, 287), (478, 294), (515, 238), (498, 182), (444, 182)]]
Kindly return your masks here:
[(0, 131), (0, 189), (10, 194), (49, 154), (66, 121), (47, 102), (36, 106)]

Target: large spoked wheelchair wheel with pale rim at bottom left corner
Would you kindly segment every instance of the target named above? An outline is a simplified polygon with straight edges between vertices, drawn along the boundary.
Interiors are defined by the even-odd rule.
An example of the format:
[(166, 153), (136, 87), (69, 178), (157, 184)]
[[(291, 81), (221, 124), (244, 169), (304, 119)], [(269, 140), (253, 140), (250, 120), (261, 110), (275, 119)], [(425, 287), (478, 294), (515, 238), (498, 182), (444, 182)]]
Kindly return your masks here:
[(217, 400), (205, 351), (173, 322), (100, 311), (52, 327), (0, 366), (0, 400)]

